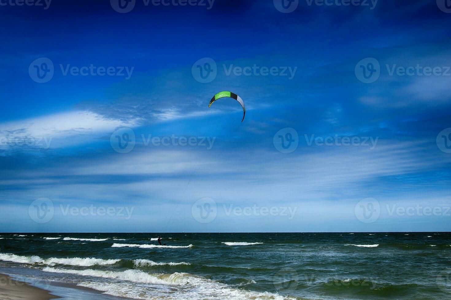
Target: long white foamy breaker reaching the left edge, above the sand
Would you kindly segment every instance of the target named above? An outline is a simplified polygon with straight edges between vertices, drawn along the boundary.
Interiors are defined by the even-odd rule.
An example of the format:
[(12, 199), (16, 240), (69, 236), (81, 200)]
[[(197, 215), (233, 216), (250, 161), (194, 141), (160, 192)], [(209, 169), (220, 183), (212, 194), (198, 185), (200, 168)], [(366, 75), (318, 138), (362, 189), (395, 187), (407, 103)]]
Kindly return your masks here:
[(70, 266), (82, 266), (82, 267), (88, 267), (93, 265), (106, 265), (106, 264), (115, 264), (120, 260), (103, 260), (101, 258), (80, 258), (80, 257), (73, 257), (73, 258), (56, 258), (51, 257), (47, 259), (43, 259), (37, 255), (32, 256), (22, 256), (22, 255), (15, 255), (15, 254), (9, 254), (9, 253), (0, 253), (0, 260), (6, 260), (6, 261), (12, 261), (15, 263), (20, 264), (46, 264), (46, 265), (55, 265), (55, 264), (65, 264)]

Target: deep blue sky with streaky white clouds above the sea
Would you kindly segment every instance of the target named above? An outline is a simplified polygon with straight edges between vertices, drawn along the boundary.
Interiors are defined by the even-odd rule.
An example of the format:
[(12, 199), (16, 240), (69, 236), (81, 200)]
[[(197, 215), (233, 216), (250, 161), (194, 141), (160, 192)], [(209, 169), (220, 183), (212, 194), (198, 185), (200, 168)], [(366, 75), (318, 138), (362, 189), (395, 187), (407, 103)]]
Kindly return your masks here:
[[(451, 127), (451, 14), (439, 1), (298, 2), (291, 13), (269, 0), (210, 9), (137, 0), (128, 13), (110, 1), (2, 5), (1, 231), (449, 231), (451, 154), (439, 133)], [(38, 83), (29, 70), (43, 58), (53, 77)], [(217, 75), (202, 83), (192, 69), (205, 58)], [(365, 58), (379, 64), (370, 83), (358, 72)], [(91, 65), (125, 75), (64, 73)], [(244, 99), (243, 123), (232, 99), (207, 107), (222, 90)], [(113, 145), (123, 127), (135, 135), (127, 153)], [(279, 130), (297, 133), (297, 148), (278, 151)], [(214, 142), (146, 142), (172, 136)], [(327, 137), (356, 143), (323, 145)], [(206, 197), (215, 217), (202, 223), (198, 207), (212, 206), (195, 203)], [(40, 198), (53, 207), (42, 223), (32, 212)], [(372, 222), (359, 218), (367, 198), (379, 205)], [(247, 207), (257, 213), (240, 213)]]

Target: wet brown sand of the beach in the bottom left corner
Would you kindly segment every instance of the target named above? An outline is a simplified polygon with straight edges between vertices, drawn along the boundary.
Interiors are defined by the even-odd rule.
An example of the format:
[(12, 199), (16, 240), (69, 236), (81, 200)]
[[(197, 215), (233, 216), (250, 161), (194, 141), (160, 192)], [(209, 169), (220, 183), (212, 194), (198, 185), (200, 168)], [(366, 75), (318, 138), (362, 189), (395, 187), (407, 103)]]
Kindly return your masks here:
[(0, 298), (4, 300), (49, 300), (60, 297), (0, 274)]

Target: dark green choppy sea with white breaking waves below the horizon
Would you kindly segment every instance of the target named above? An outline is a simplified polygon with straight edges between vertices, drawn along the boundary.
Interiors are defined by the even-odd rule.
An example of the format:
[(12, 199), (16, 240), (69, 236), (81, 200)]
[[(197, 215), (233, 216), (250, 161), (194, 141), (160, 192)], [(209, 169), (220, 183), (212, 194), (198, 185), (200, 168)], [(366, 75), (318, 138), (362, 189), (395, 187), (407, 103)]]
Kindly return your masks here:
[(3, 233), (0, 273), (66, 299), (451, 300), (451, 233)]

